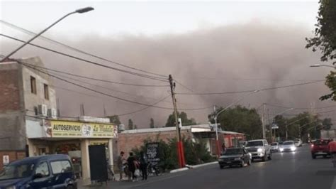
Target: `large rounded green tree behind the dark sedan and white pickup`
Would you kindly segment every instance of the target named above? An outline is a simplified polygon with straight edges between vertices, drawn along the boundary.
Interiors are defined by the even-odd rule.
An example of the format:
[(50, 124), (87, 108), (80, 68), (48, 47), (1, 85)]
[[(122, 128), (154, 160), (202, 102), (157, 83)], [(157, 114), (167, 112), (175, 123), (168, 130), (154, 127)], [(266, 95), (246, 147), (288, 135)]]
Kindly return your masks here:
[[(208, 117), (213, 122), (213, 114)], [(241, 106), (229, 108), (218, 116), (217, 121), (223, 130), (244, 133), (250, 139), (262, 138), (262, 120), (256, 109)]]

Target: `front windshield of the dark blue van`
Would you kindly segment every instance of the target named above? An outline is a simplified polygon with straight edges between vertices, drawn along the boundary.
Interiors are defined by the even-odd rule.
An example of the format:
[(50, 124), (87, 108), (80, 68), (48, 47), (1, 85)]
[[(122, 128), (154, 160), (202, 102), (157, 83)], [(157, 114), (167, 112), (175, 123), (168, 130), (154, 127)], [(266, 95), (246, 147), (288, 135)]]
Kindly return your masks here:
[(33, 163), (22, 163), (9, 165), (0, 173), (0, 180), (26, 178), (32, 175), (34, 169)]

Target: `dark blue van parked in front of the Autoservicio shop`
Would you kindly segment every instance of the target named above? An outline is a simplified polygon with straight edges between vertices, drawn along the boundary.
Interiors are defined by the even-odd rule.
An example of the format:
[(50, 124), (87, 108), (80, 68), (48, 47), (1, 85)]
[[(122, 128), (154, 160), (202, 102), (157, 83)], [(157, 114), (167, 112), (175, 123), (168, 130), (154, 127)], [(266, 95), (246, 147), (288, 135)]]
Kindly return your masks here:
[(77, 188), (69, 156), (36, 156), (13, 161), (0, 173), (0, 188)]

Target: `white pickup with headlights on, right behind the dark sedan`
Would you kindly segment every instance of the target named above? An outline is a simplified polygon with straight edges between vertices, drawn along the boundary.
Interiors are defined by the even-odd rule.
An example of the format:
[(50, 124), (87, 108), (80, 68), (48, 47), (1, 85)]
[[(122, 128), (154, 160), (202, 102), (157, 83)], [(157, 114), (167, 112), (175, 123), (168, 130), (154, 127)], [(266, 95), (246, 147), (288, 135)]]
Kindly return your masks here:
[(248, 141), (246, 149), (252, 154), (252, 161), (257, 158), (261, 158), (262, 161), (271, 160), (271, 147), (265, 139)]

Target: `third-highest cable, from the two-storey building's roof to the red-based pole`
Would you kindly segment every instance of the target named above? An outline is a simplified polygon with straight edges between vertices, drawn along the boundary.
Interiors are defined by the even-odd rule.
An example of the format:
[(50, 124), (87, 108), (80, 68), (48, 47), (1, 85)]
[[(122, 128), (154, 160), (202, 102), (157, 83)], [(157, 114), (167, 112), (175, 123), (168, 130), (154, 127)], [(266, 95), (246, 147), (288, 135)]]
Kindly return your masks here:
[(84, 79), (95, 80), (95, 81), (100, 81), (100, 82), (108, 82), (108, 83), (113, 83), (113, 84), (139, 86), (139, 87), (169, 87), (169, 85), (140, 85), (140, 84), (133, 84), (133, 83), (125, 83), (125, 82), (113, 82), (111, 80), (101, 80), (101, 79), (97, 79), (97, 78), (94, 78), (94, 77), (86, 77), (86, 76), (76, 75), (76, 74), (73, 74), (73, 73), (64, 72), (64, 71), (60, 71), (60, 70), (54, 70), (54, 69), (50, 69), (50, 68), (44, 68), (44, 67), (38, 66), (38, 65), (32, 65), (32, 64), (28, 64), (28, 63), (26, 63), (26, 64), (30, 65), (30, 66), (33, 66), (35, 68), (43, 69), (43, 70), (50, 70), (52, 72), (59, 72), (59, 73), (66, 74), (66, 75), (72, 75), (74, 77), (81, 77), (81, 78), (84, 78)]

